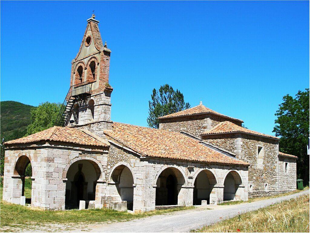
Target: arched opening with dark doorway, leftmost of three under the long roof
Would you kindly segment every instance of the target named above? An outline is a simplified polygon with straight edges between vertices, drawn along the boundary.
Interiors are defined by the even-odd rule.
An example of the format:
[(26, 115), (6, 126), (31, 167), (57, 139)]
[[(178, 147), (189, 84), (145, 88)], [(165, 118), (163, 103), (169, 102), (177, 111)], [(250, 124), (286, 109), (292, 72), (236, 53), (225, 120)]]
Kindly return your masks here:
[(183, 174), (175, 167), (168, 167), (161, 172), (156, 182), (155, 205), (177, 205), (179, 194), (185, 185)]

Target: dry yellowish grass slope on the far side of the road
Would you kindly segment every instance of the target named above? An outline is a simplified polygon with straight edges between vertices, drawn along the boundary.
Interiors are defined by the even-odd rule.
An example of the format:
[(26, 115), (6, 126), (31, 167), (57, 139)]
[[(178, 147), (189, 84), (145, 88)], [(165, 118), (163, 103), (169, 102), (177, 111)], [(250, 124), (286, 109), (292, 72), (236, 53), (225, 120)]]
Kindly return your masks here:
[(309, 232), (309, 195), (239, 214), (191, 232)]

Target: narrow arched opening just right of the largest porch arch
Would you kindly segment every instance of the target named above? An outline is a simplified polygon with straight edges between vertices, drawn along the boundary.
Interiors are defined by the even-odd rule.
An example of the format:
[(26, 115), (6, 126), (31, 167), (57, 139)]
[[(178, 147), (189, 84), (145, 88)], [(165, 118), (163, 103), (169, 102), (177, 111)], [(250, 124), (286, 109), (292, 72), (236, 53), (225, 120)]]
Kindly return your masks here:
[(115, 194), (119, 195), (120, 200), (127, 202), (128, 210), (133, 210), (134, 178), (131, 170), (125, 165), (119, 165), (112, 171), (111, 180), (115, 185)]

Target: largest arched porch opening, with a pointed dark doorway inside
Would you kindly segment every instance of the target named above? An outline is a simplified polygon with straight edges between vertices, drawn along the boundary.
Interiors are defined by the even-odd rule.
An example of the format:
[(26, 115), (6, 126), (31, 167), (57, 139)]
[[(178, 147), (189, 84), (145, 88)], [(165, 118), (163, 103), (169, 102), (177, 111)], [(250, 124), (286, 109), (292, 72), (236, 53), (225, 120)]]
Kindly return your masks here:
[(91, 160), (79, 160), (74, 162), (67, 171), (65, 208), (75, 209), (79, 207), (81, 200), (94, 201), (96, 196), (97, 180), (101, 174), (99, 166)]

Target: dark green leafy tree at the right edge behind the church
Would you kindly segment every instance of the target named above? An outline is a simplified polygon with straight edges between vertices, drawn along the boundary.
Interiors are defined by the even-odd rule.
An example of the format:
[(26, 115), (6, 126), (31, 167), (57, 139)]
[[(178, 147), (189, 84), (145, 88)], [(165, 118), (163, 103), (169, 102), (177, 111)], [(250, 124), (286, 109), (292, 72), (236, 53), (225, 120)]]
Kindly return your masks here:
[(309, 89), (298, 91), (295, 98), (289, 94), (284, 96), (275, 116), (277, 125), (273, 132), (281, 137), (279, 150), (298, 157), (297, 177), (303, 179), (304, 184), (308, 184)]

